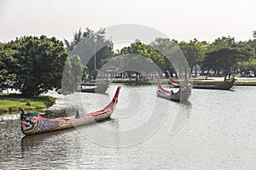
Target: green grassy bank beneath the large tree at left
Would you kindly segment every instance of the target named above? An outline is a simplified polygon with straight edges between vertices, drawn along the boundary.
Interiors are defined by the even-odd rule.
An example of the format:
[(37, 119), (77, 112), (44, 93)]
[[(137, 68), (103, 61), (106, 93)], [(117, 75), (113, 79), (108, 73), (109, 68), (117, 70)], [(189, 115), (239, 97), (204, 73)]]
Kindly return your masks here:
[(38, 96), (24, 98), (19, 94), (0, 95), (0, 113), (19, 111), (20, 108), (27, 110), (44, 109), (54, 105), (55, 98), (51, 96)]

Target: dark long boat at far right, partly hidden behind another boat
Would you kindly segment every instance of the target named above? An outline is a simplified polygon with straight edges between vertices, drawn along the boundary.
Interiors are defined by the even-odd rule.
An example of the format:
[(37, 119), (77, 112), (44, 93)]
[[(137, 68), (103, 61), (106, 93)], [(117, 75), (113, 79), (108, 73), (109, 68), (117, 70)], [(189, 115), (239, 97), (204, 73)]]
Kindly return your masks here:
[[(172, 83), (173, 88), (179, 88), (180, 85), (172, 79), (170, 72), (167, 71), (167, 73), (168, 73), (168, 77), (169, 77), (170, 82)], [(230, 78), (230, 80), (220, 82), (216, 85), (199, 85), (199, 84), (195, 85), (194, 84), (194, 85), (192, 85), (192, 88), (230, 90), (230, 88), (233, 87), (234, 82), (236, 82), (236, 78), (232, 77), (232, 78)]]

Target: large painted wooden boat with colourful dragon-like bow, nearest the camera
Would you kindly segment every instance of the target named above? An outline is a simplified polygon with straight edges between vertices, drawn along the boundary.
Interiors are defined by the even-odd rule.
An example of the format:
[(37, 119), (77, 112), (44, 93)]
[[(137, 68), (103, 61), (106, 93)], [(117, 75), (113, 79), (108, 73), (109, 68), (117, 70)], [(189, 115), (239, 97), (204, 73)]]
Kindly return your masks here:
[(113, 113), (113, 110), (118, 102), (119, 90), (120, 87), (117, 88), (111, 102), (101, 111), (95, 111), (91, 113), (77, 112), (76, 116), (47, 119), (41, 116), (38, 112), (25, 113), (23, 110), (21, 110), (21, 131), (26, 135), (35, 133), (46, 133), (107, 119)]

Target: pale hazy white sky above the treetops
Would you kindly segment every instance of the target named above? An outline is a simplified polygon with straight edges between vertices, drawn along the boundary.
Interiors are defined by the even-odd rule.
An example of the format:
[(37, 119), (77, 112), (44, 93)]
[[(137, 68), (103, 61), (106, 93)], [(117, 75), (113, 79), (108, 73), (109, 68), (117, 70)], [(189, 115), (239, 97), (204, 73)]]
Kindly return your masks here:
[(42, 34), (71, 39), (81, 27), (150, 26), (171, 39), (245, 41), (256, 30), (255, 0), (0, 0), (0, 42)]

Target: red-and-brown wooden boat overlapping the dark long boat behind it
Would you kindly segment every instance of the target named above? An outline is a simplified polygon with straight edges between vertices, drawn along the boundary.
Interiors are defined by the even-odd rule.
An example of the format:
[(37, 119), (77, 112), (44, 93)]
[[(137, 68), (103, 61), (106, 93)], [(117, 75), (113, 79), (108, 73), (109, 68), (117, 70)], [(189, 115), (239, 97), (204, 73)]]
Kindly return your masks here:
[(184, 85), (182, 88), (179, 88), (177, 92), (174, 92), (172, 89), (171, 91), (168, 91), (162, 88), (159, 76), (157, 77), (157, 82), (158, 88), (156, 94), (161, 98), (170, 99), (177, 102), (185, 102), (189, 99), (189, 96), (191, 95), (191, 89), (187, 85)]

